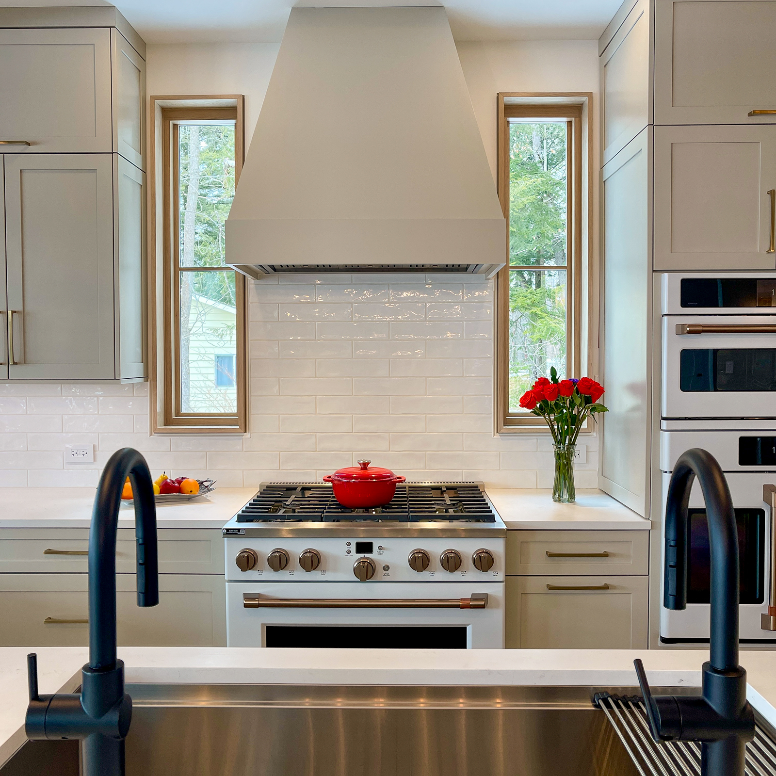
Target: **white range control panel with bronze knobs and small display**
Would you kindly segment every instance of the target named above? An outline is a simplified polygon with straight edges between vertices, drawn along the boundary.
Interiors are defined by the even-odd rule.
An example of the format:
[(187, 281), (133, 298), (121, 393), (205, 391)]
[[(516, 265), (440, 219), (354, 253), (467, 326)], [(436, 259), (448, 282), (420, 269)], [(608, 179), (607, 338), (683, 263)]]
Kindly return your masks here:
[(227, 580), (450, 582), (504, 579), (501, 539), (225, 536)]

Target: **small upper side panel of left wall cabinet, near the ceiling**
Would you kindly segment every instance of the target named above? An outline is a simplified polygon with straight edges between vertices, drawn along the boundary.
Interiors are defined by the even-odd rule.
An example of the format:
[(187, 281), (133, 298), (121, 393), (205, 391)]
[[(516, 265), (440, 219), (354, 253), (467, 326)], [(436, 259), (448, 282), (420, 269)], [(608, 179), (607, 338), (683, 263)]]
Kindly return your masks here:
[(111, 29), (113, 48), (113, 147), (145, 171), (145, 62), (126, 38)]

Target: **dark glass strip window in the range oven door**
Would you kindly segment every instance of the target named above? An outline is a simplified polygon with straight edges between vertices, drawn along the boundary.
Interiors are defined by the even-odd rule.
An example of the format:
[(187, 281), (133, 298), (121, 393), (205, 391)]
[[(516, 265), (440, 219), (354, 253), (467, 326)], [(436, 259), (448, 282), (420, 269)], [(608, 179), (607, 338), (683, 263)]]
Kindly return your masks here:
[(465, 650), (466, 625), (267, 625), (267, 646)]

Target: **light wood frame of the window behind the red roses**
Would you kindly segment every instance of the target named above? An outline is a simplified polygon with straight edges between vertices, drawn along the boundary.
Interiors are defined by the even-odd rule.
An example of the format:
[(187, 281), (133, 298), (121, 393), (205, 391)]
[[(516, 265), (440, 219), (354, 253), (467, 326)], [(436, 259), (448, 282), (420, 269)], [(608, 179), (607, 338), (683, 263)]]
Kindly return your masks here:
[[(566, 232), (566, 370), (570, 376), (594, 376), (597, 363), (598, 329), (591, 317), (597, 298), (593, 296), (593, 276), (597, 265), (591, 261), (591, 178), (592, 92), (500, 92), (497, 95), (497, 190), (504, 218), (509, 223), (509, 120), (511, 118), (566, 118), (569, 120), (567, 153), (568, 196)], [(529, 412), (509, 408), (509, 244), (507, 265), (496, 276), (496, 431), (499, 434), (549, 434), (544, 421)], [(593, 431), (588, 419), (583, 432)]]

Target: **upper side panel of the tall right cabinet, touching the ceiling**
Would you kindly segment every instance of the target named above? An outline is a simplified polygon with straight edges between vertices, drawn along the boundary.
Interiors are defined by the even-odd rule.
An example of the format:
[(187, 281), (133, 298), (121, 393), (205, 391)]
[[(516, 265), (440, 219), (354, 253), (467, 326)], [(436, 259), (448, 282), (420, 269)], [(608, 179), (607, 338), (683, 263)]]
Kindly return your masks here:
[(601, 54), (603, 154), (615, 158), (650, 121), (650, 6), (639, 0)]

